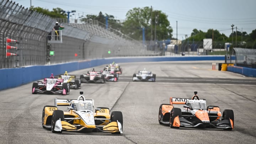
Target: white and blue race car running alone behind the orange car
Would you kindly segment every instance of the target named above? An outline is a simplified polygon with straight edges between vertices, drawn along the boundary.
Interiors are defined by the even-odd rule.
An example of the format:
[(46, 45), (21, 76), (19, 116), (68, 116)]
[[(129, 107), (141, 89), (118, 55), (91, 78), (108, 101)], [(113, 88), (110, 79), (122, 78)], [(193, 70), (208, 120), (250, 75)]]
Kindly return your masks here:
[(152, 74), (151, 71), (147, 71), (145, 68), (143, 71), (133, 74), (133, 81), (152, 81), (155, 82), (156, 74)]

